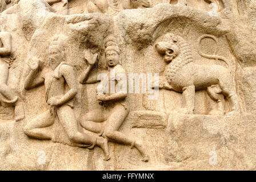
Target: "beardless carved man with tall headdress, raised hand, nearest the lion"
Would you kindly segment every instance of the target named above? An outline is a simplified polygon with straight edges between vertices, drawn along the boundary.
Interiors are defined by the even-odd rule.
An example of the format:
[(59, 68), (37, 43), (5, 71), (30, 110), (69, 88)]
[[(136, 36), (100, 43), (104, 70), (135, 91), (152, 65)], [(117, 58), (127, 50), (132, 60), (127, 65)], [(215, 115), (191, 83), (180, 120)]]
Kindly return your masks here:
[[(81, 114), (78, 120), (81, 126), (86, 130), (103, 135), (103, 137), (113, 142), (122, 143), (131, 148), (137, 148), (143, 157), (142, 160), (147, 162), (149, 158), (142, 144), (118, 131), (130, 111), (129, 104), (126, 101), (127, 90), (115, 89), (114, 92), (111, 92), (111, 88), (109, 88), (109, 86), (111, 87), (111, 81), (114, 83), (113, 87), (116, 87), (120, 84), (122, 78), (126, 79), (126, 71), (120, 64), (119, 53), (119, 48), (114, 38), (108, 38), (105, 51), (108, 68), (107, 76), (102, 78), (97, 90), (97, 100), (103, 106), (103, 110), (107, 110), (107, 113), (102, 113), (102, 110), (97, 109), (90, 113)], [(97, 61), (97, 55), (88, 55), (90, 55), (90, 53), (86, 52), (85, 57), (90, 65), (79, 78), (81, 84), (93, 84), (99, 81), (95, 75), (91, 75), (89, 78), (93, 65)], [(106, 84), (106, 81), (109, 84)]]

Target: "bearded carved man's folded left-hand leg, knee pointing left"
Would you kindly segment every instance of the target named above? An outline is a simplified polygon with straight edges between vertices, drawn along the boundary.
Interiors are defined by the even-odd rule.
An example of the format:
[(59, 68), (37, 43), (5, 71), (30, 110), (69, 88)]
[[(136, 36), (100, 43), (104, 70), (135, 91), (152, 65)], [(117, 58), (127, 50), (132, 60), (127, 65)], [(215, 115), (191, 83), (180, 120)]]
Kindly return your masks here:
[(53, 125), (53, 123), (54, 117), (50, 114), (50, 110), (47, 110), (27, 123), (24, 127), (24, 133), (31, 138), (50, 140), (52, 133), (44, 128)]

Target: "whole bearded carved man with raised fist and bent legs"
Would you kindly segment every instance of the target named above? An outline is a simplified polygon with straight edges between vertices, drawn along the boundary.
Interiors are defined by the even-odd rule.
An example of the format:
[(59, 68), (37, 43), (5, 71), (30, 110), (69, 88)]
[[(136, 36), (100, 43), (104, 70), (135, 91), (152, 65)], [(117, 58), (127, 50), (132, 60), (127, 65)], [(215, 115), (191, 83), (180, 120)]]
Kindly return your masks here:
[[(45, 84), (46, 102), (49, 110), (45, 111), (27, 123), (25, 134), (37, 139), (51, 139), (52, 133), (45, 127), (53, 125), (55, 118), (59, 119), (70, 141), (79, 147), (94, 148), (95, 144), (101, 147), (109, 159), (107, 140), (97, 135), (87, 135), (78, 131), (77, 119), (73, 110), (73, 98), (78, 92), (74, 69), (65, 62), (65, 48), (62, 39), (57, 36), (49, 47), (50, 69), (42, 69), (41, 63), (33, 60), (30, 72), (25, 80), (25, 89), (31, 89)], [(39, 75), (39, 76), (37, 76)]]

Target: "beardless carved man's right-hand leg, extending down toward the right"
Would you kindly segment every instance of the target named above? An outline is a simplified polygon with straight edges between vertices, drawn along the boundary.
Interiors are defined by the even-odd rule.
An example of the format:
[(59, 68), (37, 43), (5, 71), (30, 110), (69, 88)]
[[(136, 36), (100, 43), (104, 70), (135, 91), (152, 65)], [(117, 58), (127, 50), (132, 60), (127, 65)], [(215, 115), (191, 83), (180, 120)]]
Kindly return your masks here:
[(121, 104), (116, 105), (111, 111), (110, 117), (107, 119), (105, 135), (114, 142), (126, 144), (131, 148), (137, 148), (143, 157), (142, 160), (148, 162), (149, 157), (146, 155), (145, 148), (142, 144), (118, 131), (128, 114), (129, 109), (125, 109)]

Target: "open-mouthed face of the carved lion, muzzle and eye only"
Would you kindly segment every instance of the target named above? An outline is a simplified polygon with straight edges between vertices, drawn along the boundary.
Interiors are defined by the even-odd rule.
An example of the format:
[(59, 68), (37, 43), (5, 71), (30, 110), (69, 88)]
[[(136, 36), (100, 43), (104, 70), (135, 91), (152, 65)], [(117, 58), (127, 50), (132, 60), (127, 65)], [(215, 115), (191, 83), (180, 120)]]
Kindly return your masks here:
[(159, 42), (155, 44), (155, 48), (158, 53), (163, 55), (163, 59), (166, 63), (170, 63), (175, 57), (178, 56), (179, 47), (175, 44), (177, 41), (170, 42)]

